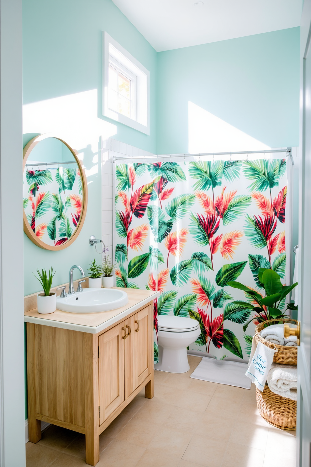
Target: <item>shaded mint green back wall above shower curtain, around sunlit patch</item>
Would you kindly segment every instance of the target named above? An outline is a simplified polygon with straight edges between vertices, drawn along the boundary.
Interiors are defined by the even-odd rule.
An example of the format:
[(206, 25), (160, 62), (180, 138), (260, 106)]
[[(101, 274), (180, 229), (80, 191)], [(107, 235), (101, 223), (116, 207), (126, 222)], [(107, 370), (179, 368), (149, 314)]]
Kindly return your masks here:
[(188, 101), (270, 147), (299, 145), (299, 28), (158, 53), (157, 152), (188, 152)]

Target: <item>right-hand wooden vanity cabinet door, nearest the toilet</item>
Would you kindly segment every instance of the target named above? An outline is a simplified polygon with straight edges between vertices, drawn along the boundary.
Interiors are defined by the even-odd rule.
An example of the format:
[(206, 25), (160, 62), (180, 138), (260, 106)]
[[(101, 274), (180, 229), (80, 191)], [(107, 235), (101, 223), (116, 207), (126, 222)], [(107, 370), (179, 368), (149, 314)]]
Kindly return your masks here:
[[(124, 321), (129, 334), (124, 342), (124, 397), (138, 388), (151, 373), (153, 344), (151, 342), (151, 306)], [(127, 327), (126, 327), (127, 326)]]

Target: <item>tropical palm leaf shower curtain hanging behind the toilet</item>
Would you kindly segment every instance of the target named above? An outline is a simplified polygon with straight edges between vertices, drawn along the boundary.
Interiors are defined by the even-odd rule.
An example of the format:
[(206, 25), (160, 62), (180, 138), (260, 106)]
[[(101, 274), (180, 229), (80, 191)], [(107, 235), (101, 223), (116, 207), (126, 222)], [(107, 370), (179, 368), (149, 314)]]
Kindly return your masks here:
[(285, 159), (122, 163), (115, 176), (117, 286), (161, 292), (154, 360), (161, 314), (199, 321), (190, 350), (247, 359), (254, 324), (243, 332), (252, 316), (228, 282), (263, 293), (271, 267), (285, 283)]

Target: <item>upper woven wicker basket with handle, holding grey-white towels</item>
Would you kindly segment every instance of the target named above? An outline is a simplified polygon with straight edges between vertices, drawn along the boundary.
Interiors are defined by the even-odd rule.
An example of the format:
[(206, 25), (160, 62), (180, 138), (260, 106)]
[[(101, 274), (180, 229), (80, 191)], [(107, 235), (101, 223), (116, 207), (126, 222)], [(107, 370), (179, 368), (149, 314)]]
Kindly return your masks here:
[(288, 347), (288, 346), (278, 346), (276, 344), (272, 344), (272, 342), (269, 342), (269, 340), (265, 340), (261, 335), (259, 334), (260, 331), (263, 330), (264, 327), (266, 327), (267, 324), (278, 324), (278, 323), (292, 323), (292, 324), (298, 324), (298, 321), (296, 319), (290, 319), (290, 318), (282, 318), (282, 319), (270, 319), (268, 321), (263, 321), (259, 325), (256, 326), (256, 332), (255, 332), (255, 340), (256, 344), (258, 342), (262, 342), (265, 346), (270, 347), (271, 349), (274, 348), (274, 346), (277, 348), (277, 352), (275, 352), (273, 361), (275, 363), (283, 363), (283, 365), (297, 365), (297, 347)]

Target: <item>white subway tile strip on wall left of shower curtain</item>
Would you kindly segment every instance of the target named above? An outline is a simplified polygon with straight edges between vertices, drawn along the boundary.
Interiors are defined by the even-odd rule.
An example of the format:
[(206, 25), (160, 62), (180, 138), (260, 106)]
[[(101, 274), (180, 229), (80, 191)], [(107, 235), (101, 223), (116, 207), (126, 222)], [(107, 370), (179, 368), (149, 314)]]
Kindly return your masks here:
[[(114, 197), (113, 187), (113, 157), (122, 156), (153, 156), (151, 152), (135, 148), (113, 138), (102, 140), (102, 240), (108, 248), (108, 255), (113, 260), (113, 229), (114, 229)], [(103, 255), (104, 259), (104, 255)]]

